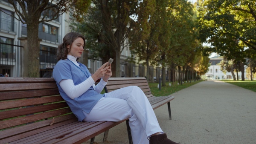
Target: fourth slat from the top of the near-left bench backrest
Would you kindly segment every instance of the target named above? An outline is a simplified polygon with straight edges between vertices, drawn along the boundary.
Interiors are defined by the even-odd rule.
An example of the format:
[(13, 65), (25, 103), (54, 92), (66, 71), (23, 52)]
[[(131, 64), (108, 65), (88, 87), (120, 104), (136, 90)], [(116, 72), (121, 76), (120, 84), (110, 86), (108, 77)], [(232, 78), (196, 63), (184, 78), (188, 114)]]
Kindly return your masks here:
[(29, 98), (22, 99), (16, 101), (2, 101), (0, 102), (0, 109), (11, 109), (17, 107), (26, 107), (35, 104), (45, 104), (52, 103), (57, 101), (64, 101), (61, 96), (51, 96), (51, 97), (43, 97), (43, 98)]

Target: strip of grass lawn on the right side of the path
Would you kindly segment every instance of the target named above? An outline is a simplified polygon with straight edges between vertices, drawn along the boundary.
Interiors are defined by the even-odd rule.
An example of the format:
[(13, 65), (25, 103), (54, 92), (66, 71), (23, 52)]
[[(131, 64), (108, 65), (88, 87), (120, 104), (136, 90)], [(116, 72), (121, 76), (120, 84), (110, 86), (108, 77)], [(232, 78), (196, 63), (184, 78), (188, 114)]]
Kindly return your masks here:
[(250, 89), (256, 92), (256, 81), (233, 81), (233, 80), (221, 80), (221, 81), (240, 86), (244, 89)]

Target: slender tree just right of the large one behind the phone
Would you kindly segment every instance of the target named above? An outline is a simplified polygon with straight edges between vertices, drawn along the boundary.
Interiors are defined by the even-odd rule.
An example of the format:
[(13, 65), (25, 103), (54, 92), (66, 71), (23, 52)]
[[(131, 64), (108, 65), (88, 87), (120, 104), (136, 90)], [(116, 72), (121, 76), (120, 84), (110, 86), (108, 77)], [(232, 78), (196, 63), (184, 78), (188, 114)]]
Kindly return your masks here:
[[(147, 66), (146, 78), (149, 80), (149, 63), (157, 52), (160, 21), (157, 10), (159, 1), (143, 0), (138, 6), (137, 20), (129, 35), (130, 50), (139, 61), (145, 61)], [(132, 56), (133, 56), (132, 55)], [(152, 79), (152, 81), (154, 81)]]

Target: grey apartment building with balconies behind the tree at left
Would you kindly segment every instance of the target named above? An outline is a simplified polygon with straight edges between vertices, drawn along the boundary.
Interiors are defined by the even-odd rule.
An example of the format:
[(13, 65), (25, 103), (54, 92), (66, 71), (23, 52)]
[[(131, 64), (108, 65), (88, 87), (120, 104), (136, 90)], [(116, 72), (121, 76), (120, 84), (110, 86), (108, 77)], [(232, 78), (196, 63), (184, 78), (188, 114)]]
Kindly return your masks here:
[[(15, 2), (17, 3), (17, 2)], [(0, 74), (9, 77), (23, 77), (23, 41), (27, 36), (27, 26), (10, 15), (17, 16), (8, 0), (0, 0)], [(50, 11), (50, 13), (54, 13)], [(39, 24), (40, 77), (51, 72), (56, 60), (58, 45), (71, 29), (68, 24), (70, 15), (62, 14), (56, 20)]]

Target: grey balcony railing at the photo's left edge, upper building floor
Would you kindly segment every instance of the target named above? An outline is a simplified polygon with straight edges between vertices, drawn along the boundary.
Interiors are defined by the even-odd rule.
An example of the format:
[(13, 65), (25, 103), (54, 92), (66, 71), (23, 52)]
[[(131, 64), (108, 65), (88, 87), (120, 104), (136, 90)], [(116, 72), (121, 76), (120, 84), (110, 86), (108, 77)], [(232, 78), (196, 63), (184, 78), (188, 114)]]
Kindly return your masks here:
[(17, 23), (1, 18), (0, 19), (0, 30), (7, 31), (7, 32), (14, 32), (16, 34)]

